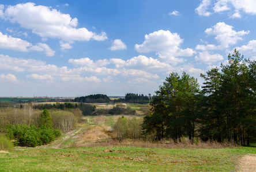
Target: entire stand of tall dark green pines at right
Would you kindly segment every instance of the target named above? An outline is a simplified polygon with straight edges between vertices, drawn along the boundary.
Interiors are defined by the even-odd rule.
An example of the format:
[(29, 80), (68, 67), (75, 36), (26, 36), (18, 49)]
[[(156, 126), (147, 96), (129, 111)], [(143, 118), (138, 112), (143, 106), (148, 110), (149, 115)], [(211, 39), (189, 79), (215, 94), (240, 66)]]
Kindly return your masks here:
[(156, 91), (144, 118), (145, 135), (155, 139), (183, 136), (242, 146), (256, 141), (256, 61), (244, 60), (235, 50), (228, 64), (201, 73), (197, 79), (183, 72), (171, 73)]

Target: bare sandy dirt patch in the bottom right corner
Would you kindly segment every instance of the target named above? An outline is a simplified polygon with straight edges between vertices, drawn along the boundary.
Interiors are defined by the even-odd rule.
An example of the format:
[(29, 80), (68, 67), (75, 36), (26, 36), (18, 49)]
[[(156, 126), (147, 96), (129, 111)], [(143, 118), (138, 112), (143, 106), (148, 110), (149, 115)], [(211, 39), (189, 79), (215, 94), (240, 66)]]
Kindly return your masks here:
[(240, 159), (238, 171), (256, 171), (256, 155), (246, 155)]

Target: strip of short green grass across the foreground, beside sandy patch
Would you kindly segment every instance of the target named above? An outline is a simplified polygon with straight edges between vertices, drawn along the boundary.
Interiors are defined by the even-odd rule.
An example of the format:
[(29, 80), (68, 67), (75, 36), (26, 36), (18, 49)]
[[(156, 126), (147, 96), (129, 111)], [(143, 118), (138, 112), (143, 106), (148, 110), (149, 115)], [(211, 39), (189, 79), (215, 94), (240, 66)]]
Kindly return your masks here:
[(95, 146), (0, 153), (0, 171), (236, 171), (256, 148)]

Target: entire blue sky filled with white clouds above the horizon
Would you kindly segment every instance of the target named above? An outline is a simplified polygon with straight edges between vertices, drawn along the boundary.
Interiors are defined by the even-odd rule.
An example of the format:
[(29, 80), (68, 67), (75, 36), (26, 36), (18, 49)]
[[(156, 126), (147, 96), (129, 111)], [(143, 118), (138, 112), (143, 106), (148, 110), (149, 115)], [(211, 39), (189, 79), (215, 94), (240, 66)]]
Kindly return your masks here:
[(256, 60), (255, 0), (0, 1), (0, 97), (155, 94)]

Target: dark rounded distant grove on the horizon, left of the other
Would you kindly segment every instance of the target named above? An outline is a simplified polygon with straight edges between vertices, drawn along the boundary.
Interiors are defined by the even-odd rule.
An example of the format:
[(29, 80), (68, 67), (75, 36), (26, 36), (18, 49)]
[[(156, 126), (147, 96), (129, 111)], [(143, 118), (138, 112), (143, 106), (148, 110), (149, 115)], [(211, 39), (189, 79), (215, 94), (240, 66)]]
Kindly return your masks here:
[(110, 102), (110, 98), (107, 95), (96, 94), (96, 95), (76, 97), (74, 101), (80, 102), (80, 103), (108, 103)]

